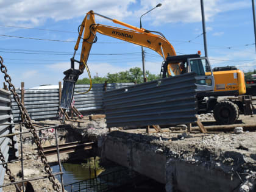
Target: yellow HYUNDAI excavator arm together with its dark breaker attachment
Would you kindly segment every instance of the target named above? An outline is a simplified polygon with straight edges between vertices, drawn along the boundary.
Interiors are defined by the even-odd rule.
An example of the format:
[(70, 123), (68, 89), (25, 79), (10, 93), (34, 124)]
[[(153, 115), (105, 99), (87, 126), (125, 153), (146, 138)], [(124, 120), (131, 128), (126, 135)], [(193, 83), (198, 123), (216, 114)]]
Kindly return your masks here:
[[(120, 24), (129, 29), (122, 29), (119, 27), (106, 26), (102, 24), (96, 24), (94, 15), (102, 16), (107, 20), (113, 21), (113, 23)], [(71, 105), (74, 94), (74, 85), (80, 74), (84, 73), (84, 69), (87, 65), (87, 60), (90, 55), (91, 46), (96, 43), (96, 34), (100, 33), (102, 35), (107, 35), (113, 38), (118, 38), (119, 40), (127, 41), (129, 43), (138, 44), (146, 48), (152, 49), (166, 60), (168, 56), (175, 56), (176, 52), (172, 47), (171, 43), (166, 40), (163, 35), (152, 34), (149, 30), (131, 26), (130, 24), (123, 23), (107, 16), (100, 15), (99, 13), (94, 13), (92, 10), (87, 13), (82, 24), (79, 26), (79, 35), (74, 47), (74, 55), (71, 58), (71, 68), (64, 72), (66, 75), (62, 90), (62, 100), (60, 107), (68, 109)], [(84, 34), (83, 34), (84, 33)], [(160, 34), (160, 33), (159, 33)], [(80, 40), (82, 39), (82, 50), (80, 54), (80, 60), (75, 60), (76, 51), (79, 48)], [(79, 63), (79, 69), (74, 68), (74, 63)], [(179, 63), (168, 63), (169, 76), (180, 74)]]

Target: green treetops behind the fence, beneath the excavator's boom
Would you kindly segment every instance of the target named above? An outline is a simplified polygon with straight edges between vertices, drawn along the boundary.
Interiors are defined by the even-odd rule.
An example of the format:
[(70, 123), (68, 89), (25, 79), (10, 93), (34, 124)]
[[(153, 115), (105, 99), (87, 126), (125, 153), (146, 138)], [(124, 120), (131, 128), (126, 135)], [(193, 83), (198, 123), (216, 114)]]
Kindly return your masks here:
[[(146, 77), (149, 81), (159, 79), (158, 75), (151, 74), (149, 71), (146, 71)], [(105, 81), (108, 83), (130, 83), (137, 82), (137, 84), (143, 83), (143, 72), (140, 68), (130, 68), (128, 71), (121, 71), (119, 73), (107, 74), (107, 77), (93, 77), (91, 79), (93, 84), (103, 84)], [(88, 78), (77, 80), (76, 84), (90, 84)]]

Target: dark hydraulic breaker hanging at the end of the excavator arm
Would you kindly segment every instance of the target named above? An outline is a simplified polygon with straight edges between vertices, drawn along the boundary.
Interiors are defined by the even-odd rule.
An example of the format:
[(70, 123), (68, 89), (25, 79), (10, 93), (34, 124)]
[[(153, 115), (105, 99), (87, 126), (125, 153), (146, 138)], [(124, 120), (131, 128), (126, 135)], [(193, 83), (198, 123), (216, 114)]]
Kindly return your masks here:
[(71, 59), (71, 68), (64, 71), (65, 77), (63, 79), (63, 88), (62, 88), (62, 99), (60, 101), (60, 107), (64, 109), (69, 109), (74, 95), (74, 86), (82, 70), (74, 69), (74, 62), (78, 62)]

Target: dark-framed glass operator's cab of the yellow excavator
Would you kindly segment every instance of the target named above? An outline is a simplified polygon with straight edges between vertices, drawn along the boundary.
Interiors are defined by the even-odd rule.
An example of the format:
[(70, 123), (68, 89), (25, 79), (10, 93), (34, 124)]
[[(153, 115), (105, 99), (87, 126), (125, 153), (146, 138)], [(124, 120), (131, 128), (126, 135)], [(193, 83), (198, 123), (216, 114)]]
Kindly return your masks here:
[(166, 77), (167, 66), (171, 63), (185, 63), (186, 73), (196, 73), (197, 92), (214, 90), (213, 71), (207, 57), (200, 57), (199, 54), (168, 56), (163, 69), (163, 77)]

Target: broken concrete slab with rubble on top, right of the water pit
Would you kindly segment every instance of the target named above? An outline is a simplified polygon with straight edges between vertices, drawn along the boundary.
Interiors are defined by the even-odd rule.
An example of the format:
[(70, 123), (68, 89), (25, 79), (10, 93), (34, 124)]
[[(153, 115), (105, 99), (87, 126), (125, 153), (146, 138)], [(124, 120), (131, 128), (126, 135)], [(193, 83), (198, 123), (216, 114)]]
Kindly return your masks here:
[[(213, 121), (211, 114), (198, 117), (201, 121)], [(240, 116), (240, 120), (254, 121), (244, 116)], [(60, 121), (49, 122), (60, 124)], [(239, 128), (240, 134), (235, 134), (235, 130), (188, 133), (186, 125), (166, 127), (162, 133), (148, 134), (146, 129), (138, 127), (113, 127), (112, 132), (108, 132), (104, 118), (90, 120), (87, 117), (66, 121), (65, 127), (68, 131), (63, 131), (62, 136), (69, 135), (66, 141), (71, 142), (74, 135), (77, 140), (97, 141), (98, 155), (102, 159), (107, 158), (164, 183), (166, 191), (255, 190), (256, 132), (241, 132)], [(42, 132), (41, 137), (51, 138), (51, 130)], [(38, 158), (36, 152), (26, 155), (29, 159)], [(36, 161), (38, 164), (33, 166), (43, 170), (40, 160)]]

